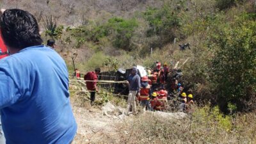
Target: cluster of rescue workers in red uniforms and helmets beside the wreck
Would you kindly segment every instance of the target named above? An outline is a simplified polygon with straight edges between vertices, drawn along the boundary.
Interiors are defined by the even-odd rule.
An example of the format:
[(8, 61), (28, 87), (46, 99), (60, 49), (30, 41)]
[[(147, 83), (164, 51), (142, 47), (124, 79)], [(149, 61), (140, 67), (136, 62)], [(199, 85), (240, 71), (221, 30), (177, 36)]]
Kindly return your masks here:
[[(141, 77), (141, 88), (138, 100), (146, 110), (163, 111), (168, 107), (168, 91), (166, 90), (166, 81), (168, 81), (169, 68), (167, 63), (161, 67), (160, 62), (156, 62), (154, 70), (148, 69), (148, 76)], [(180, 98), (180, 111), (186, 111), (193, 104), (193, 95), (191, 92), (187, 95), (183, 92), (184, 88), (177, 79), (173, 78), (170, 94), (177, 95)]]

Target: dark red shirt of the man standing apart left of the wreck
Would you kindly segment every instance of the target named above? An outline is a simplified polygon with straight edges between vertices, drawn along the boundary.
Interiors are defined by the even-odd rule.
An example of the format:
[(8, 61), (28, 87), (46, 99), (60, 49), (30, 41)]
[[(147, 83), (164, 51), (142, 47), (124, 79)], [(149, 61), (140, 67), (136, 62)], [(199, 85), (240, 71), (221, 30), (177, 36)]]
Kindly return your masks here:
[(98, 81), (97, 74), (95, 72), (88, 72), (84, 75), (84, 80), (86, 81), (86, 88), (87, 90), (95, 90), (95, 85)]

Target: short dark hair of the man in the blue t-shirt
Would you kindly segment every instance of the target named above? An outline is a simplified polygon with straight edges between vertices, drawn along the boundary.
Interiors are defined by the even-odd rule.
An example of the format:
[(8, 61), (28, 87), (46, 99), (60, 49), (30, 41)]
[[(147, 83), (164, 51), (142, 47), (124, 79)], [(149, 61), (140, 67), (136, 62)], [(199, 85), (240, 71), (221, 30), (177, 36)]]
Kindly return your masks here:
[(4, 43), (14, 49), (41, 45), (43, 42), (35, 17), (24, 10), (5, 10), (0, 27)]

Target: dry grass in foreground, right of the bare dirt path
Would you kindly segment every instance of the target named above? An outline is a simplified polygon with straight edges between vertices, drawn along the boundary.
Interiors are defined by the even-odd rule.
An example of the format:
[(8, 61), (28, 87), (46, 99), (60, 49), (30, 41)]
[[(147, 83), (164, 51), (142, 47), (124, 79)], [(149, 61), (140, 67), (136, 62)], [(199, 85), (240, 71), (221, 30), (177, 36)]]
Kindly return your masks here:
[(220, 113), (205, 112), (197, 109), (182, 120), (136, 116), (116, 125), (118, 143), (256, 143), (256, 113), (237, 115), (229, 121)]

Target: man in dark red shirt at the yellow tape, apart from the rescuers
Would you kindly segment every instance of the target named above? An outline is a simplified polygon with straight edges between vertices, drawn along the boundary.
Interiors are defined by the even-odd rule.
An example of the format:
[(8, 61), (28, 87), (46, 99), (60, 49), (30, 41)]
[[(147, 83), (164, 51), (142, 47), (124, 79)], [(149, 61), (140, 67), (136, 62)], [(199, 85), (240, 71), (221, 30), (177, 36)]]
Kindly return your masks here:
[(84, 75), (84, 81), (86, 81), (86, 88), (87, 90), (90, 91), (90, 100), (91, 100), (91, 105), (94, 104), (95, 100), (95, 92), (98, 92), (97, 88), (97, 81), (98, 77), (97, 75), (100, 74), (100, 68), (96, 68), (95, 72), (88, 72), (87, 74)]

